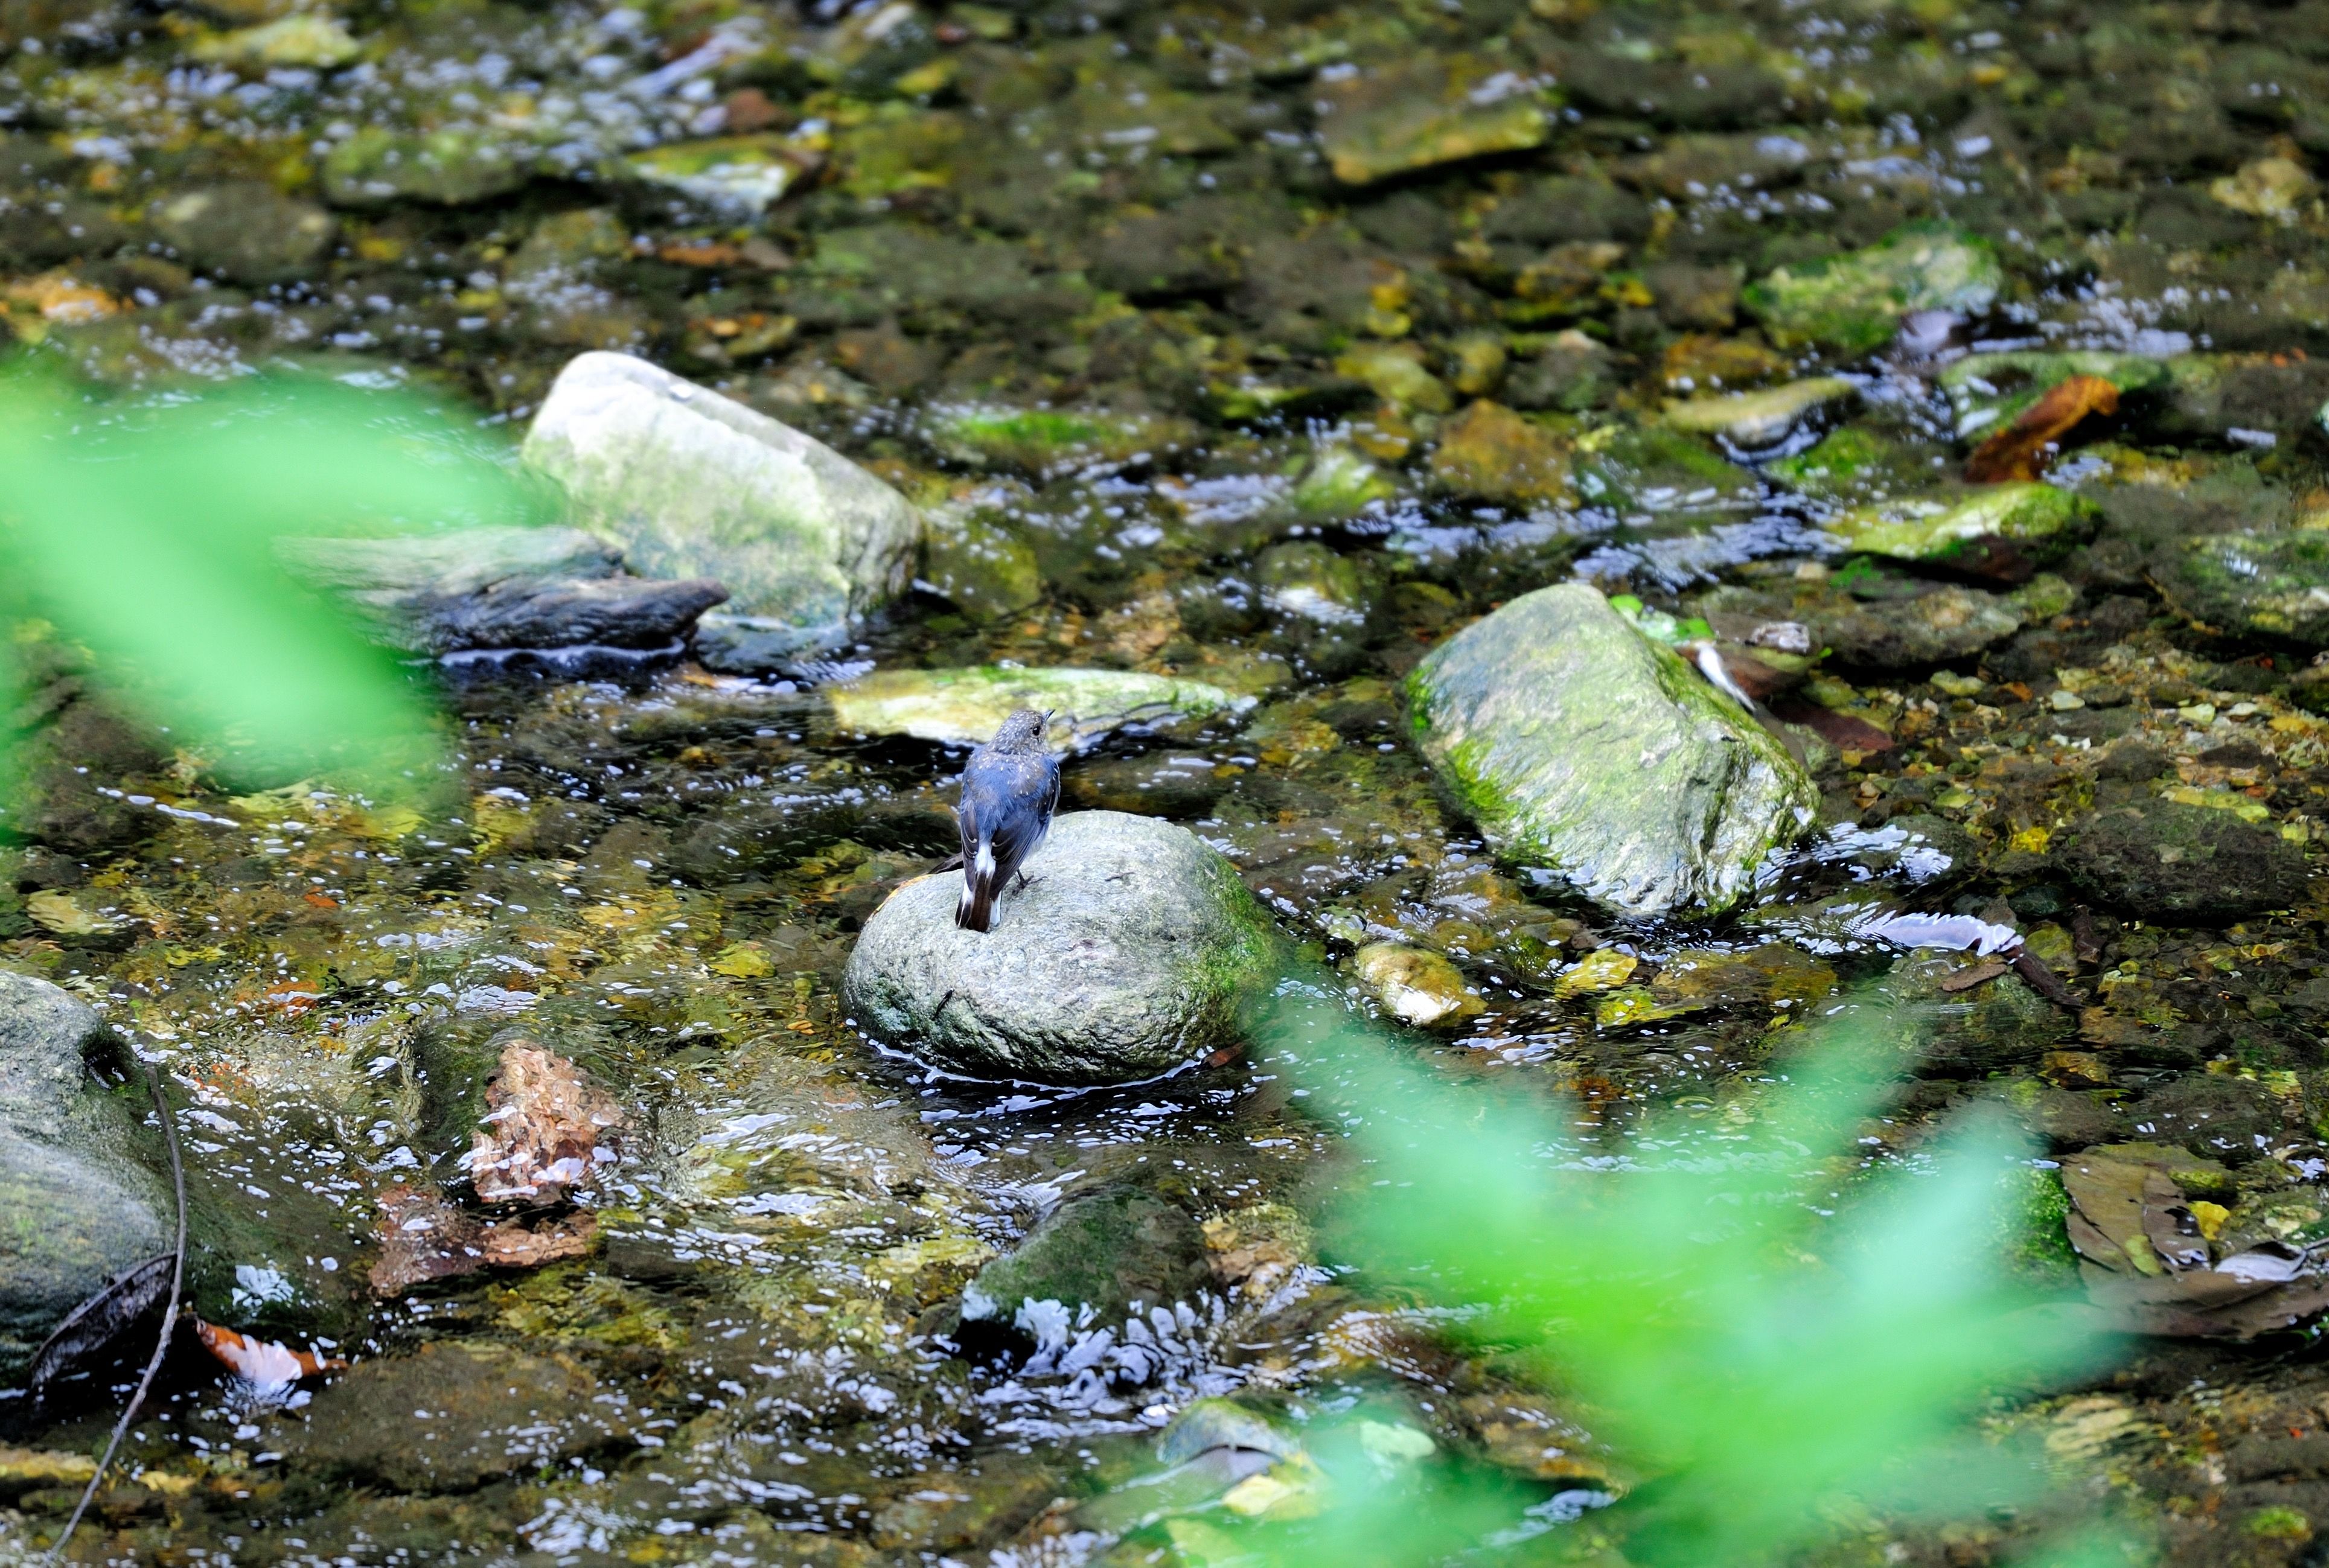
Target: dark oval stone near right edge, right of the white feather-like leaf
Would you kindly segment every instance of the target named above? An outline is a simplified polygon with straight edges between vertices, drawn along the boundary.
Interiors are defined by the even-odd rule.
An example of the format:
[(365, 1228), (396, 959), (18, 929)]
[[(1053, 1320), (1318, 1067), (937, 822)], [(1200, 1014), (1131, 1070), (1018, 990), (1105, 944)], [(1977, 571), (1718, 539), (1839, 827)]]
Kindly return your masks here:
[(2115, 806), (2080, 818), (2061, 839), (2054, 862), (2070, 883), (2140, 920), (2238, 920), (2306, 897), (2301, 848), (2213, 806)]

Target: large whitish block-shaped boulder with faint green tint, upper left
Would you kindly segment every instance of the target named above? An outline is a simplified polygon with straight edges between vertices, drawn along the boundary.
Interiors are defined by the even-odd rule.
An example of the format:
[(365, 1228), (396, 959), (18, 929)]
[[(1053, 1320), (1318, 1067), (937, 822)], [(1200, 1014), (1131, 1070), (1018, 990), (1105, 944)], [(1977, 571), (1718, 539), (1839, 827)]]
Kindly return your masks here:
[(922, 520), (831, 447), (629, 354), (578, 354), (524, 459), (650, 578), (717, 578), (699, 650), (722, 669), (829, 645), (906, 589)]

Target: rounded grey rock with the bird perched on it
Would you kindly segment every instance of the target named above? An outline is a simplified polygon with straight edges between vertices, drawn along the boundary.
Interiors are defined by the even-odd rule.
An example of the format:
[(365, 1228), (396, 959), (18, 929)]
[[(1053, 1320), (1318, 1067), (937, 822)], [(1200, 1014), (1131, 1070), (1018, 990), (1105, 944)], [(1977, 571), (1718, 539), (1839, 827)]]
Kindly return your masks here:
[(943, 1069), (1039, 1083), (1127, 1083), (1237, 1041), (1276, 937), (1213, 848), (1076, 811), (1025, 869), (992, 932), (955, 925), (957, 871), (892, 892), (850, 955), (857, 1023)]

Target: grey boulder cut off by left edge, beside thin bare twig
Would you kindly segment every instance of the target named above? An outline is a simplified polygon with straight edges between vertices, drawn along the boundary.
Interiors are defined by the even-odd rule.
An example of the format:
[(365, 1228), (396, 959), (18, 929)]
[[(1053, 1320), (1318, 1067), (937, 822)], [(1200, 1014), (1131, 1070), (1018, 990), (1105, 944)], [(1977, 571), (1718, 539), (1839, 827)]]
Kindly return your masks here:
[(0, 972), (0, 1382), (82, 1300), (170, 1246), (133, 1114), (89, 1081), (102, 1027), (56, 986)]

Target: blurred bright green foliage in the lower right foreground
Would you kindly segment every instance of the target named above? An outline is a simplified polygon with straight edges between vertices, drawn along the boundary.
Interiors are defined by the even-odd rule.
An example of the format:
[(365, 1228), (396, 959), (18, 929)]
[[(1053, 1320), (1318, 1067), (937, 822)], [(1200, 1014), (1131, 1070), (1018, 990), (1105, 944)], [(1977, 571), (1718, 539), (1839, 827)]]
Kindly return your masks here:
[[(1425, 1069), (1328, 983), (1283, 983), (1258, 1039), (1358, 1153), (1339, 1251), (1470, 1307), (1460, 1333), (1558, 1389), (1647, 1477), (1535, 1552), (1607, 1538), (1633, 1563), (1712, 1566), (1782, 1559), (1845, 1519), (2029, 1503), (2040, 1468), (1975, 1419), (1998, 1393), (2110, 1354), (2082, 1307), (2036, 1302), (2003, 1267), (2026, 1177), (2003, 1116), (1863, 1158), (1863, 1118), (1889, 1090), (1866, 1065), (1900, 1060), (1900, 1027), (1886, 1009), (1833, 1009), (1796, 1030), (1791, 1062), (1733, 1116), (1670, 1114), (1605, 1146), (1523, 1086)], [(1330, 1438), (1321, 1456), (1332, 1452)], [(1323, 1519), (1279, 1526), (1283, 1540), (1258, 1531), (1251, 1549), (1444, 1561), (1472, 1556), (1463, 1547), (1495, 1512), (1512, 1519), (1488, 1484), (1439, 1486), (1418, 1507), (1355, 1449), (1346, 1458), (1328, 1470), (1365, 1484), (1339, 1484)]]

